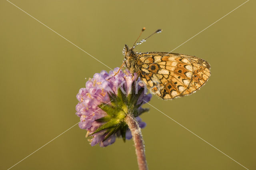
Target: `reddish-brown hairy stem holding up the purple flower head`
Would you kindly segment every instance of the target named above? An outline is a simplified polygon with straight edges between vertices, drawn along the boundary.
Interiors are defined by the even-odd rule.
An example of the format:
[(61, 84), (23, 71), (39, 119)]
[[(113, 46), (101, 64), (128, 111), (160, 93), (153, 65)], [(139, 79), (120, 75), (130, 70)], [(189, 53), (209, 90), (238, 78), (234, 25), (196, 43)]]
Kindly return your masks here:
[(139, 170), (148, 170), (146, 156), (145, 156), (144, 141), (142, 138), (142, 134), (141, 134), (141, 130), (138, 125), (138, 122), (136, 121), (134, 116), (130, 113), (126, 115), (125, 122), (127, 123), (128, 127), (132, 132), (132, 139), (134, 141)]

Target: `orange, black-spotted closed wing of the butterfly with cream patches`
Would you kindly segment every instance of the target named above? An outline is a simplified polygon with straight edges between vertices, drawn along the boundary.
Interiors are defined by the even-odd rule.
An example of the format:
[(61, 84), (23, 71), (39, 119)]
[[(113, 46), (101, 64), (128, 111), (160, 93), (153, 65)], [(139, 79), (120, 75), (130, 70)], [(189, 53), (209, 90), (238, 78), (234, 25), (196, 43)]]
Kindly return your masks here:
[(148, 89), (162, 99), (189, 95), (202, 87), (210, 77), (210, 64), (190, 55), (142, 53), (136, 65)]

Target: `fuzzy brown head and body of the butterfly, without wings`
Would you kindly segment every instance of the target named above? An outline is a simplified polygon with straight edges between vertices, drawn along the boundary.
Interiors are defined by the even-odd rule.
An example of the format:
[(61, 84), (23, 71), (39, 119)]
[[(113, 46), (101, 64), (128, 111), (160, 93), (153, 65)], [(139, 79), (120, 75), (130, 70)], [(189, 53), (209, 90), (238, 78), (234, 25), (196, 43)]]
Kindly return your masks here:
[(138, 67), (136, 67), (137, 54), (133, 51), (133, 49), (129, 49), (128, 45), (124, 45), (123, 55), (126, 68), (132, 74), (134, 72), (138, 72)]

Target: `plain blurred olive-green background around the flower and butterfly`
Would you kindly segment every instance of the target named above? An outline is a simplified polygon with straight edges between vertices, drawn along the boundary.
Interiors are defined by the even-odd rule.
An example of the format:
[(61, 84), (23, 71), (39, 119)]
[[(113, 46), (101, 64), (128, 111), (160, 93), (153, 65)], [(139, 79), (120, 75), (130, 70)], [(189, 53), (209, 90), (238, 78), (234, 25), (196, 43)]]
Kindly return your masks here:
[[(245, 0), (12, 0), (110, 68), (122, 48), (161, 28), (138, 51), (171, 51)], [(250, 0), (174, 52), (206, 59), (212, 76), (193, 95), (150, 104), (248, 169), (256, 169), (256, 3)], [(8, 1), (0, 2), (0, 168), (7, 169), (78, 123), (76, 94), (110, 69)], [(150, 105), (145, 105), (150, 107)], [(142, 115), (148, 166), (170, 170), (245, 169), (150, 107)], [(75, 126), (12, 169), (137, 169), (132, 140), (90, 146)]]

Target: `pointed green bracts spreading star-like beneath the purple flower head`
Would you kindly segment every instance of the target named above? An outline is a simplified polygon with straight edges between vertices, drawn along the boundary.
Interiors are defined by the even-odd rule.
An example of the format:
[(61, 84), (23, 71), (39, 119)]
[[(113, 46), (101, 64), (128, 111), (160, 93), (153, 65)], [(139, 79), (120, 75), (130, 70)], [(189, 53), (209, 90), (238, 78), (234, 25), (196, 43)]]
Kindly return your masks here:
[[(123, 88), (124, 89), (124, 86)], [(104, 140), (106, 140), (112, 134), (118, 132), (120, 130), (120, 134), (122, 135), (122, 139), (126, 140), (126, 130), (128, 125), (124, 121), (126, 115), (128, 113), (132, 114), (134, 117), (138, 117), (142, 113), (148, 111), (149, 109), (143, 109), (141, 105), (143, 101), (138, 103), (140, 96), (142, 95), (144, 88), (140, 88), (136, 93), (135, 83), (132, 83), (132, 89), (130, 93), (126, 96), (123, 91), (119, 88), (118, 95), (115, 93), (109, 92), (108, 96), (111, 102), (106, 105), (106, 103), (101, 103), (98, 105), (103, 111), (107, 113), (105, 117), (97, 119), (98, 122), (105, 122), (103, 125), (98, 127), (94, 132), (90, 135), (93, 135), (102, 130), (106, 130), (104, 134), (107, 134)], [(125, 90), (124, 90), (125, 91)], [(140, 107), (140, 109), (139, 109)], [(103, 140), (103, 141), (104, 141)]]

